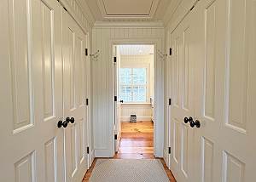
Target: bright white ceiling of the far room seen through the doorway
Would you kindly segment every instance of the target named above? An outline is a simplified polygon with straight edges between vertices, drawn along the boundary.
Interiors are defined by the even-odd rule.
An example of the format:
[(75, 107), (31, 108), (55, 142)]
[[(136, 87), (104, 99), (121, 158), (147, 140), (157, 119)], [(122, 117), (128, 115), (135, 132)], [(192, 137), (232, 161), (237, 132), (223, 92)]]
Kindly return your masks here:
[(154, 45), (125, 44), (118, 46), (121, 55), (148, 55), (154, 54)]

